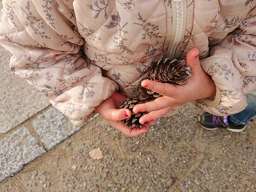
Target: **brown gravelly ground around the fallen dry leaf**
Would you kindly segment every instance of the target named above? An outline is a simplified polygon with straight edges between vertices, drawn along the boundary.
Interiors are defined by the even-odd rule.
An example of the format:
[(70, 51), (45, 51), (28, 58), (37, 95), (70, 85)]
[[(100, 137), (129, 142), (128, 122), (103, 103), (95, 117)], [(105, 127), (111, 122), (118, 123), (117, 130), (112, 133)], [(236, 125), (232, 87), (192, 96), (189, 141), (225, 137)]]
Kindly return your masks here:
[[(98, 117), (3, 180), (0, 192), (256, 191), (256, 123), (207, 131), (200, 113), (191, 104), (135, 138)], [(98, 146), (99, 160), (89, 155)]]

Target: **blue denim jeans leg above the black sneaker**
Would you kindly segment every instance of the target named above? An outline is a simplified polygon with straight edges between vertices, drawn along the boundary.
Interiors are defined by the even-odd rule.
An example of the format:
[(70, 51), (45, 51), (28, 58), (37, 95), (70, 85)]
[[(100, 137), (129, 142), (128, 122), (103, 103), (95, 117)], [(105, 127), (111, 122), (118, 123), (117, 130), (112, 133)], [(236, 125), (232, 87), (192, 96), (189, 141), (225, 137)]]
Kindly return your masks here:
[(245, 125), (256, 116), (256, 90), (248, 93), (246, 97), (248, 106), (243, 111), (229, 116), (229, 119), (238, 125)]

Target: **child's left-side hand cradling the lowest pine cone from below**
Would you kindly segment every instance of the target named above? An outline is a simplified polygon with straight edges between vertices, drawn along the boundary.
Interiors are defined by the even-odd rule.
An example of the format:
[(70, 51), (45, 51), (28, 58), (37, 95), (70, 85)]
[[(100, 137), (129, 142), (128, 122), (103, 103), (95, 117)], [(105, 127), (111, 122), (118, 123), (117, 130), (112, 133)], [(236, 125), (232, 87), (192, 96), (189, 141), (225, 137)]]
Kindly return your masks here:
[(148, 131), (148, 126), (154, 123), (154, 120), (147, 122), (147, 126), (143, 126), (140, 130), (138, 128), (129, 129), (122, 123), (122, 119), (126, 119), (131, 116), (129, 109), (116, 109), (126, 97), (120, 93), (115, 92), (111, 97), (101, 103), (101, 105), (95, 108), (95, 111), (106, 119), (108, 123), (121, 131), (123, 134), (129, 137), (135, 137)]

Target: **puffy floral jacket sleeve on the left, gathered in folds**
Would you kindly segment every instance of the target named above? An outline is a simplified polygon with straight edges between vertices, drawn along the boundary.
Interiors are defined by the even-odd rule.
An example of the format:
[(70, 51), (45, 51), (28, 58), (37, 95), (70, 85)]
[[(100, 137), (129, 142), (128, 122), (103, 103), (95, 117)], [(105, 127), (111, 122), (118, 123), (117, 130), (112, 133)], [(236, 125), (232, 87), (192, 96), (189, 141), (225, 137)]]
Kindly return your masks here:
[(74, 9), (58, 2), (3, 0), (0, 44), (13, 54), (11, 71), (81, 126), (118, 86), (84, 55)]

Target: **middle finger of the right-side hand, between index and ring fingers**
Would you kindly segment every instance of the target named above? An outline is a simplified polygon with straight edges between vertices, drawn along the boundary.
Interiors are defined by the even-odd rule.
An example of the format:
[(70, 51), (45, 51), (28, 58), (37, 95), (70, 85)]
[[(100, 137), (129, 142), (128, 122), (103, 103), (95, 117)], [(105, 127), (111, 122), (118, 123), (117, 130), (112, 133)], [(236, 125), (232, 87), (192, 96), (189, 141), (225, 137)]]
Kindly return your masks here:
[(138, 112), (152, 112), (159, 111), (167, 106), (174, 107), (176, 106), (175, 101), (170, 97), (159, 97), (154, 101), (149, 101), (147, 103), (135, 105), (133, 108), (134, 113)]

